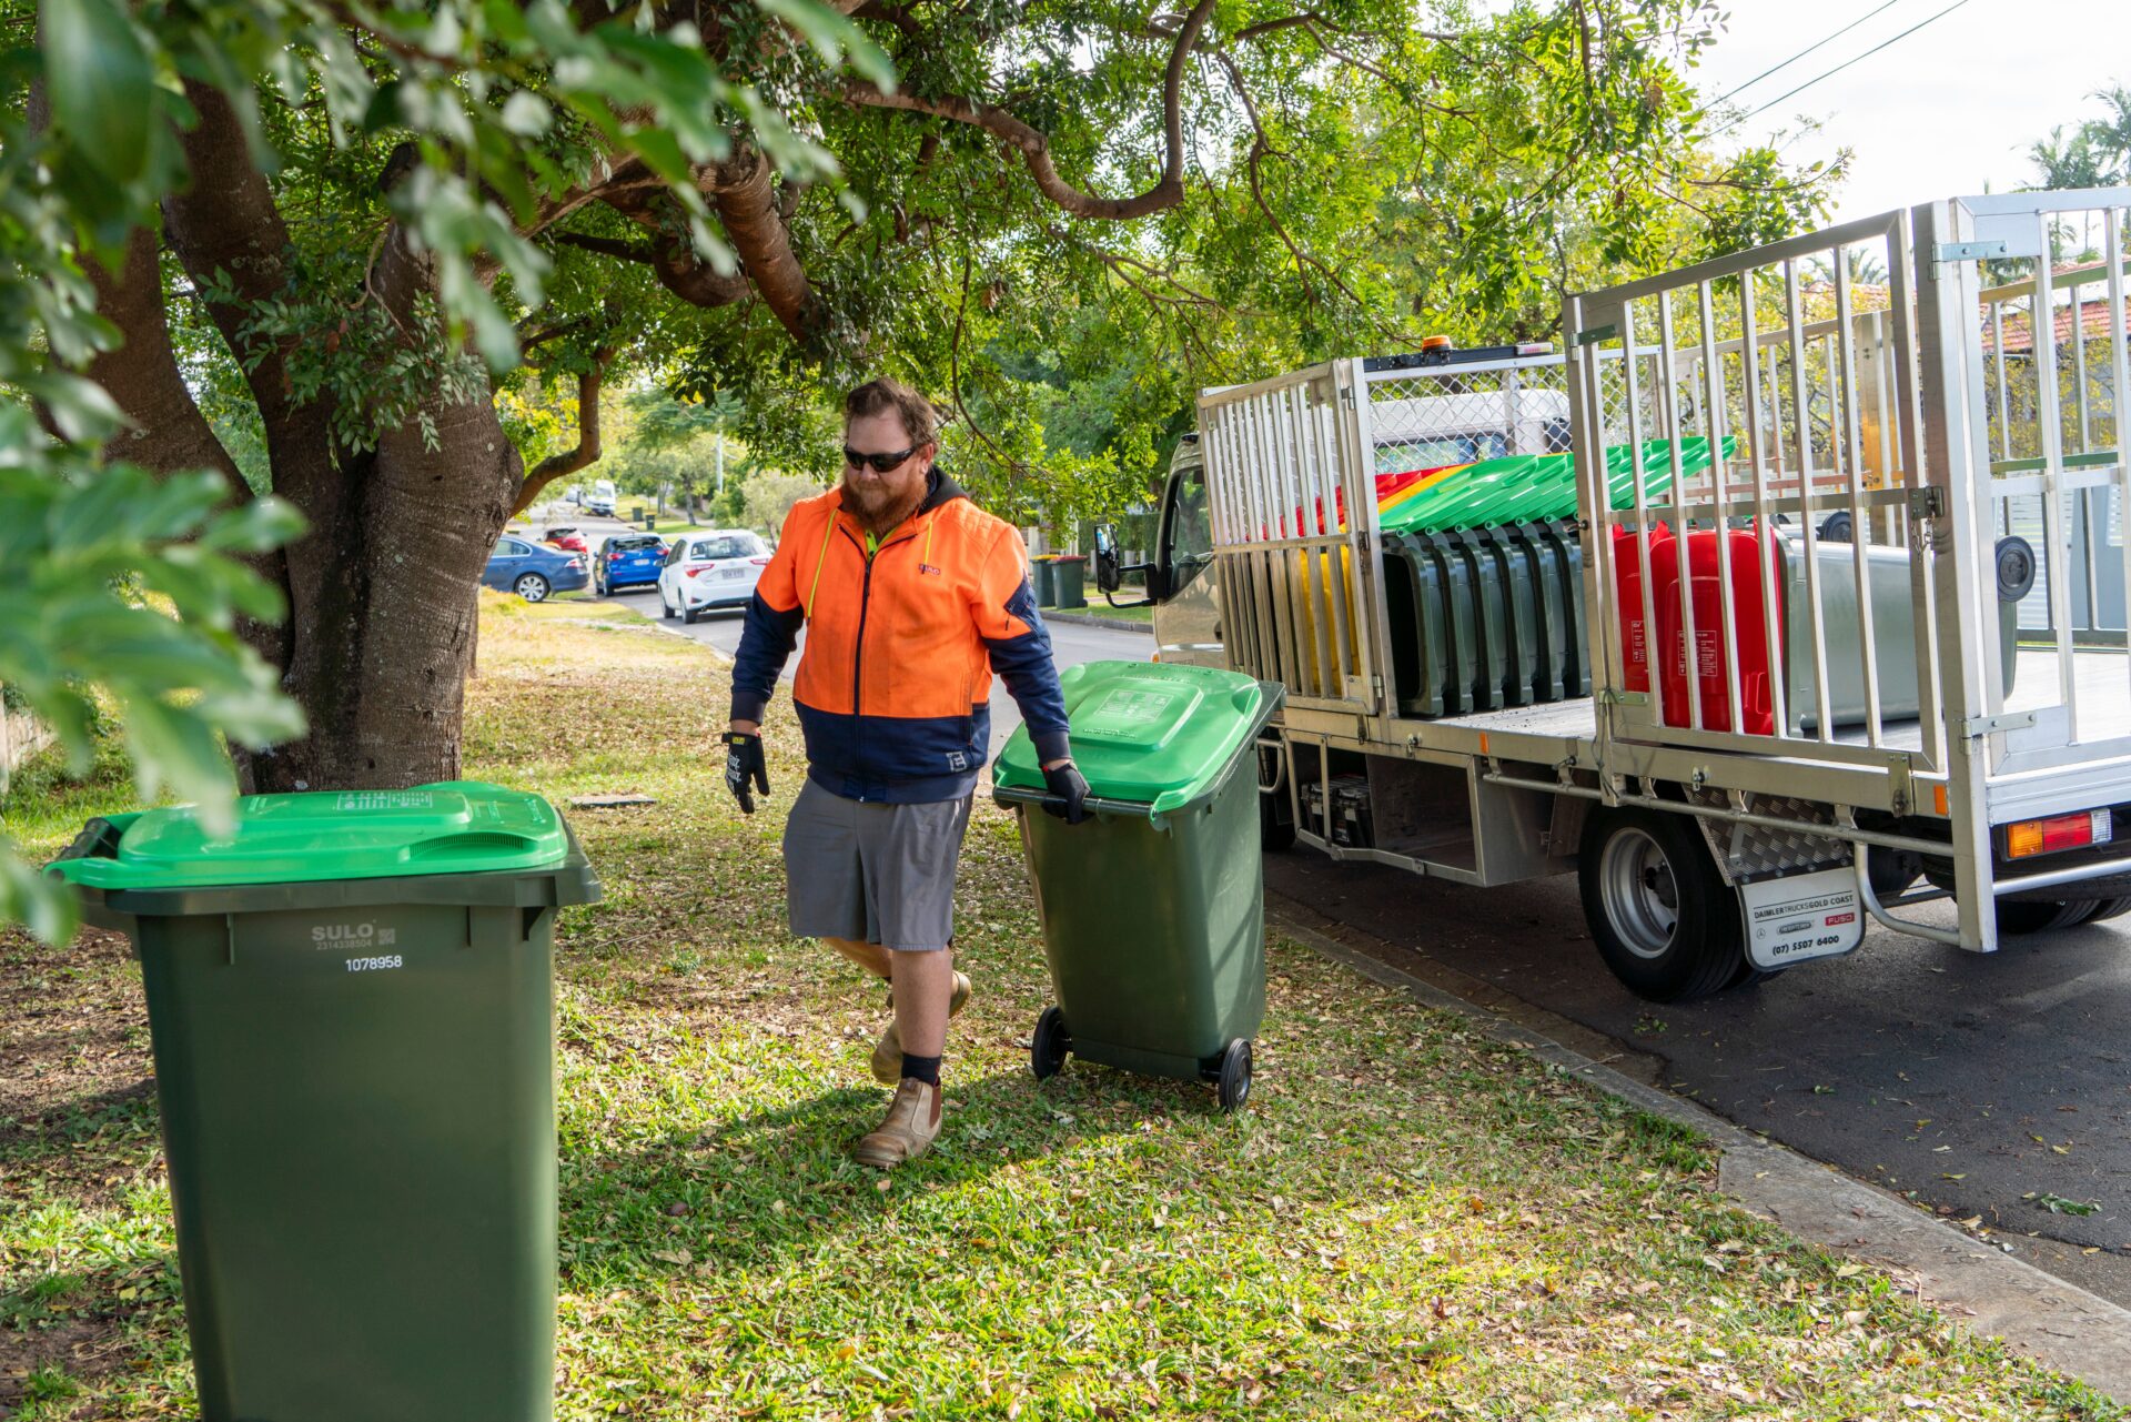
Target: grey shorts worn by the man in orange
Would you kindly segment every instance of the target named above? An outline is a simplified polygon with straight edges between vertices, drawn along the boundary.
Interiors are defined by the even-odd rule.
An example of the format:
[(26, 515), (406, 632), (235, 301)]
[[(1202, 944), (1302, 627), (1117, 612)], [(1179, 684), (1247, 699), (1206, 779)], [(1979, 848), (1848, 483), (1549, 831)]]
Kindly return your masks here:
[(955, 866), (967, 827), (970, 795), (891, 806), (808, 780), (784, 821), (793, 936), (944, 949), (955, 936)]

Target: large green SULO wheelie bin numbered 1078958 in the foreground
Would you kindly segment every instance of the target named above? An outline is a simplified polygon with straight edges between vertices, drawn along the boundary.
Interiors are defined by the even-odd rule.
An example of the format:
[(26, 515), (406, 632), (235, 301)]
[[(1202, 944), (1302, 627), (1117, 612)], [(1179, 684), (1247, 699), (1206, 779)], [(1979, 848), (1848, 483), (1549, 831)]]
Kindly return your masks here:
[(445, 782), (94, 819), (132, 936), (205, 1422), (554, 1416), (554, 908), (539, 795)]

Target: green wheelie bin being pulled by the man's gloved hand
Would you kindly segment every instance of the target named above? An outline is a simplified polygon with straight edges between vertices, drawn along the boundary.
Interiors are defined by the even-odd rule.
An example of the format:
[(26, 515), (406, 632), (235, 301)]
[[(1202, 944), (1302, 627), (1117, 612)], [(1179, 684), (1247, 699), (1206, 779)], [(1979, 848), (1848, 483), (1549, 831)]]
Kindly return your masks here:
[(1251, 1092), (1266, 1015), (1266, 893), (1257, 750), (1279, 682), (1215, 667), (1091, 661), (1059, 674), (1091, 821), (1046, 814), (1027, 727), (993, 767), (1036, 880), (1057, 1006), (1029, 1062), (1068, 1053), (1213, 1081), (1223, 1111)]

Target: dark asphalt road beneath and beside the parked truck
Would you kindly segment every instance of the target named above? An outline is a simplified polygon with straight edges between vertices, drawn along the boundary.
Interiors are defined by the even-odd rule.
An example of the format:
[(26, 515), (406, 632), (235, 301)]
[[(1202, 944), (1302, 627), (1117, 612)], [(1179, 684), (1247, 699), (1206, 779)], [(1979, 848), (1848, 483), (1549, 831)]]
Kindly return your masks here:
[[(1308, 915), (1406, 949), (1409, 970), (1690, 1096), (2131, 1307), (2131, 919), (1992, 957), (1873, 927), (1850, 957), (1694, 1004), (1632, 998), (1598, 962), (1575, 876), (1464, 889), (1308, 849), (1266, 857)], [(1933, 910), (1950, 919), (1943, 906)], [(2097, 1205), (2052, 1213), (2044, 1196)], [(2061, 1207), (2065, 1209), (2065, 1207)], [(2031, 1239), (2033, 1234), (2033, 1239)]]

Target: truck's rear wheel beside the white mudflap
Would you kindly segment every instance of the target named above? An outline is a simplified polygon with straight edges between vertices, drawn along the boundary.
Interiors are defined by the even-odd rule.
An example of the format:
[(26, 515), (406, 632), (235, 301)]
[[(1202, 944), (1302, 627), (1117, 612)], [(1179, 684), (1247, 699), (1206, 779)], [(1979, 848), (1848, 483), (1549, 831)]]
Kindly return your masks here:
[(1686, 814), (1594, 808), (1577, 880), (1598, 955), (1634, 996), (1690, 1002), (1750, 976), (1739, 891)]

